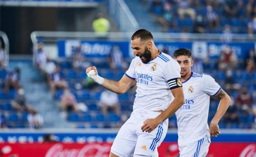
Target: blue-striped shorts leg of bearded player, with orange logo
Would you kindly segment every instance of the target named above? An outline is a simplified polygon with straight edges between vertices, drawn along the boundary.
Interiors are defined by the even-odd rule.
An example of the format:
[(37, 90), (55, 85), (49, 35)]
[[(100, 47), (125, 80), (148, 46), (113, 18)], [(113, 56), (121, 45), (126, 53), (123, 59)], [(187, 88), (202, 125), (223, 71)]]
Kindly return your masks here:
[(151, 133), (142, 132), (138, 135), (133, 157), (158, 157), (158, 146), (165, 139), (168, 119), (160, 123)]

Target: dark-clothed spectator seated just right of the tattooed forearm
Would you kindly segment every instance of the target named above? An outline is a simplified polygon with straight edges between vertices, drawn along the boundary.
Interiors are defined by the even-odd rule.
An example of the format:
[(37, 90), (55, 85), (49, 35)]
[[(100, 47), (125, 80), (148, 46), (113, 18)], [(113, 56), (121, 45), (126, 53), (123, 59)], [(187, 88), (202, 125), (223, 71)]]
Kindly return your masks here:
[(234, 104), (233, 100), (231, 101), (228, 110), (226, 111), (225, 115), (223, 116), (224, 124), (238, 124), (239, 117), (238, 117), (238, 107)]

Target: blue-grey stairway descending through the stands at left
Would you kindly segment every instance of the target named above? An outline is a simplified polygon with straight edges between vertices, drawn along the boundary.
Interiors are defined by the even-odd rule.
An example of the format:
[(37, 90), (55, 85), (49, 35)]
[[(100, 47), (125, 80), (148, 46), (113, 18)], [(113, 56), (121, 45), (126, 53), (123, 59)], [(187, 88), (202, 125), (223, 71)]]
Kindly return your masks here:
[(65, 117), (60, 116), (58, 104), (53, 100), (43, 74), (33, 67), (31, 56), (11, 56), (9, 69), (21, 69), (21, 85), (25, 89), (27, 102), (43, 116), (43, 127), (71, 127)]

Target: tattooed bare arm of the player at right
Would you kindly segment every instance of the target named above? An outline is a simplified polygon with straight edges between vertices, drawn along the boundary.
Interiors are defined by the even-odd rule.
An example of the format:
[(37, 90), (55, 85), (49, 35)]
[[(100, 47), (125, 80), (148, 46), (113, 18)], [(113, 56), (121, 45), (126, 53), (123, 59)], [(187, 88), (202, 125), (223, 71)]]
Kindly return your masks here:
[(217, 93), (217, 95), (215, 95), (214, 97), (219, 99), (220, 102), (219, 102), (217, 111), (216, 111), (212, 121), (210, 122), (211, 137), (217, 137), (220, 134), (220, 130), (219, 130), (219, 126), (218, 126), (219, 120), (222, 118), (224, 113), (227, 111), (227, 109), (229, 108), (229, 104), (231, 102), (229, 95), (223, 89), (220, 89), (219, 93)]

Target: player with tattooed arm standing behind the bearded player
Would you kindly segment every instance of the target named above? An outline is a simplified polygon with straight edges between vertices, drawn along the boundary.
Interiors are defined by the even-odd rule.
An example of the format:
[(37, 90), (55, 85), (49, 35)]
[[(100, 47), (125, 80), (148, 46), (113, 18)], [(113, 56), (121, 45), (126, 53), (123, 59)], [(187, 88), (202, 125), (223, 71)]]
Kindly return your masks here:
[[(194, 61), (188, 49), (178, 49), (174, 59), (181, 66), (185, 104), (176, 111), (180, 157), (205, 157), (210, 137), (220, 134), (218, 122), (230, 104), (230, 97), (210, 75), (193, 73)], [(210, 95), (220, 100), (217, 112), (207, 124)]]

